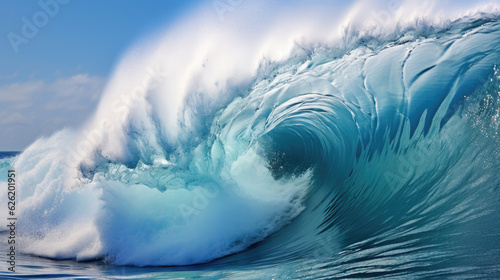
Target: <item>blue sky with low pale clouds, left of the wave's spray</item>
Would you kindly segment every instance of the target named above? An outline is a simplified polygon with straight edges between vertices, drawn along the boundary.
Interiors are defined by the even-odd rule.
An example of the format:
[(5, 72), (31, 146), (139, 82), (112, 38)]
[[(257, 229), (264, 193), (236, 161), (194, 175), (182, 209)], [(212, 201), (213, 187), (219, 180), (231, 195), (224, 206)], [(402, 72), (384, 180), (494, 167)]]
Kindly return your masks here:
[(0, 150), (83, 122), (124, 52), (199, 2), (56, 1), (0, 1)]

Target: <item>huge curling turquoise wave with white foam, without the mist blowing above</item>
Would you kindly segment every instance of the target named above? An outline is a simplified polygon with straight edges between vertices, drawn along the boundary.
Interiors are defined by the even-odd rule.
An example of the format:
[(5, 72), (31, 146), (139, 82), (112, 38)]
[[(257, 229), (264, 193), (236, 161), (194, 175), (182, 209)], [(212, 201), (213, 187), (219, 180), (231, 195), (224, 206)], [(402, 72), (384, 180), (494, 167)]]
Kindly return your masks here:
[(499, 276), (498, 16), (289, 36), (286, 54), (186, 28), (133, 49), (83, 128), (1, 160), (20, 177), (24, 253)]

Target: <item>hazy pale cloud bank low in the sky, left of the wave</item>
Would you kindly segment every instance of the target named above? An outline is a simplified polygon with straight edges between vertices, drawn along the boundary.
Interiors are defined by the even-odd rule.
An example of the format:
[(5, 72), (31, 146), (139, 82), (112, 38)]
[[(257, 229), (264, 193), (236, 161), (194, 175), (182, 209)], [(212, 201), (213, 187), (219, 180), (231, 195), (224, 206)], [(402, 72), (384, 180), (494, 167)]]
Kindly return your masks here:
[(78, 74), (55, 81), (0, 86), (0, 151), (22, 150), (38, 137), (74, 127), (94, 111), (104, 79)]

